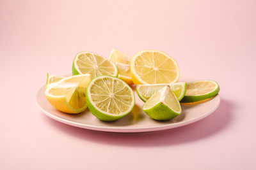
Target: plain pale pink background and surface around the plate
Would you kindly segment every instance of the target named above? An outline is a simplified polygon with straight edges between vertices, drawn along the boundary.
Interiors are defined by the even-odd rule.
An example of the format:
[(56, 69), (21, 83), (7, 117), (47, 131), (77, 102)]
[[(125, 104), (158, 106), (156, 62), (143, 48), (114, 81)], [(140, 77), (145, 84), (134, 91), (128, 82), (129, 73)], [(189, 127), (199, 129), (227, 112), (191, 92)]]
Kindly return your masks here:
[[(0, 169), (256, 169), (255, 2), (0, 1)], [(220, 108), (143, 134), (79, 129), (36, 108), (47, 73), (111, 48), (169, 53), (181, 76), (220, 83)]]

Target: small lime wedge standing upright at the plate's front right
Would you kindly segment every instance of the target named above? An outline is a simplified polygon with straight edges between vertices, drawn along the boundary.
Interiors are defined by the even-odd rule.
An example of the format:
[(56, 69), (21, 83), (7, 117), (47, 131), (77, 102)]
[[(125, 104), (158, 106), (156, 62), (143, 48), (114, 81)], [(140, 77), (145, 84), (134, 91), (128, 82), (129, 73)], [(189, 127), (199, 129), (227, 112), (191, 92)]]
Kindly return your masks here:
[(180, 115), (181, 107), (170, 86), (164, 86), (148, 99), (143, 111), (155, 120), (169, 120)]

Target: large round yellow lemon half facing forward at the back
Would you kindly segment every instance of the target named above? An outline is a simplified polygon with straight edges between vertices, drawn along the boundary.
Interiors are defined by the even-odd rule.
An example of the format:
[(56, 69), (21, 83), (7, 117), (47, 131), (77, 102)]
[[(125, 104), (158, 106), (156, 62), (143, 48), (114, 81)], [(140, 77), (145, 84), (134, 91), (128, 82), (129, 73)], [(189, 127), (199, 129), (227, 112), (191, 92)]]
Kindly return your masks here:
[(178, 63), (159, 50), (143, 50), (131, 60), (131, 76), (134, 84), (172, 83), (179, 80)]

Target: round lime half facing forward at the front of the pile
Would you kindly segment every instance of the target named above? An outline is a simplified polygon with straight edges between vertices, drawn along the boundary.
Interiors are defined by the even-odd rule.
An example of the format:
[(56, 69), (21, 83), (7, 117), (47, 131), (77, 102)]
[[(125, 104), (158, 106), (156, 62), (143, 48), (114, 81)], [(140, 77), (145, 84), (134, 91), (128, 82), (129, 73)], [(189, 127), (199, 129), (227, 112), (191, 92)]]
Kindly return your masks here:
[(133, 90), (113, 76), (97, 76), (87, 88), (86, 102), (95, 117), (114, 121), (124, 117), (135, 104)]

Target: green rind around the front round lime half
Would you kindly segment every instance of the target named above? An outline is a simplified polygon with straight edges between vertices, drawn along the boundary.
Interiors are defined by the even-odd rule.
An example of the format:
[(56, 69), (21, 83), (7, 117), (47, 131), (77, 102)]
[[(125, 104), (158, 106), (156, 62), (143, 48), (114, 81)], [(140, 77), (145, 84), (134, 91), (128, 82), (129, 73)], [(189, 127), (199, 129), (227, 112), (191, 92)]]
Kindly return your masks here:
[(112, 78), (116, 78), (116, 79), (118, 79), (118, 80), (124, 82), (124, 83), (127, 85), (127, 87), (132, 91), (132, 96), (133, 96), (133, 98), (134, 98), (134, 103), (132, 104), (131, 109), (130, 109), (129, 111), (125, 112), (125, 113), (122, 113), (122, 115), (110, 115), (110, 114), (107, 114), (107, 113), (103, 113), (102, 111), (99, 111), (99, 110), (92, 104), (92, 102), (90, 101), (90, 98), (89, 98), (89, 96), (88, 96), (88, 94), (90, 94), (90, 92), (89, 92), (90, 87), (91, 87), (90, 84), (93, 83), (93, 81), (94, 81), (95, 79), (97, 79), (97, 78), (99, 78), (99, 77), (101, 77), (101, 76), (106, 77), (106, 75), (97, 76), (97, 77), (93, 78), (93, 80), (89, 83), (88, 88), (86, 89), (86, 103), (87, 103), (88, 109), (91, 111), (91, 113), (92, 113), (95, 117), (99, 118), (99, 120), (103, 120), (103, 121), (106, 121), (106, 122), (113, 122), (113, 121), (118, 120), (118, 119), (120, 119), (120, 118), (122, 118), (122, 117), (125, 117), (128, 113), (130, 113), (130, 112), (132, 111), (132, 108), (134, 108), (134, 105), (135, 105), (135, 96), (134, 96), (134, 92), (133, 92), (133, 90), (131, 89), (131, 87), (130, 87), (127, 83), (125, 83), (125, 81), (123, 81), (123, 80), (121, 80), (120, 78), (117, 78), (117, 77), (115, 77), (115, 76), (109, 76), (109, 77), (112, 77)]

